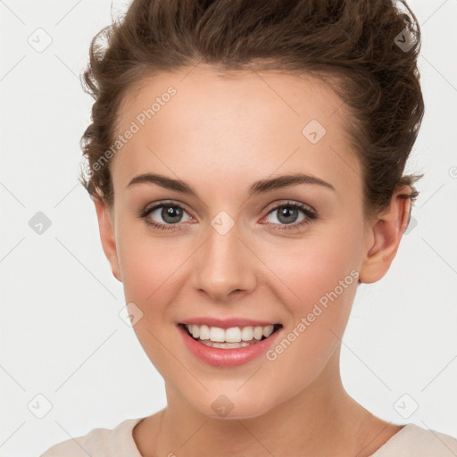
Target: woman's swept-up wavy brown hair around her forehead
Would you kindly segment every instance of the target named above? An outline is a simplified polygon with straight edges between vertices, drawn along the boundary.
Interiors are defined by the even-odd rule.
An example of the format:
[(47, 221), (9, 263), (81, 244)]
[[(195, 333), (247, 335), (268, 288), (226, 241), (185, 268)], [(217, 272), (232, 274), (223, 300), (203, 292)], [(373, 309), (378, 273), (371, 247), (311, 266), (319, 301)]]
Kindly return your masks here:
[(328, 82), (351, 114), (365, 215), (386, 209), (398, 185), (413, 203), (423, 175), (403, 170), (424, 113), (419, 52), (420, 26), (403, 0), (133, 0), (92, 39), (83, 79), (95, 103), (80, 182), (112, 206), (109, 163), (96, 163), (112, 148), (123, 97), (147, 76), (208, 63)]

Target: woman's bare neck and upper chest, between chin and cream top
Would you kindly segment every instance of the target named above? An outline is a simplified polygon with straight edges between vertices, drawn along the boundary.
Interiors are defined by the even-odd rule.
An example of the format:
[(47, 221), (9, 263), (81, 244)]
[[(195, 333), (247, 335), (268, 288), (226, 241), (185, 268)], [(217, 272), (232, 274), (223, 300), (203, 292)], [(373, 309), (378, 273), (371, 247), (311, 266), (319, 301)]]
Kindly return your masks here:
[(195, 411), (169, 385), (166, 392), (167, 408), (156, 415), (155, 426), (151, 423), (147, 433), (137, 436), (144, 457), (363, 457), (398, 431), (346, 394), (339, 376), (339, 348), (309, 386), (258, 417), (213, 419)]

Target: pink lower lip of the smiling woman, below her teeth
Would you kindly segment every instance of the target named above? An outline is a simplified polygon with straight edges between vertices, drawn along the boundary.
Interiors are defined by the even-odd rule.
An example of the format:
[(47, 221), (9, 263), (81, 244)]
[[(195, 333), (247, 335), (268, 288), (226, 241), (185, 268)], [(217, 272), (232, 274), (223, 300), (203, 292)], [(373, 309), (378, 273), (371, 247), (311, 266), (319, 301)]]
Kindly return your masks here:
[(282, 327), (278, 328), (270, 337), (262, 339), (258, 343), (236, 349), (221, 349), (220, 347), (202, 345), (187, 334), (187, 329), (183, 325), (179, 324), (178, 329), (187, 349), (200, 360), (215, 367), (236, 367), (237, 365), (243, 365), (248, 361), (252, 361), (262, 355), (262, 353), (266, 353), (278, 338)]

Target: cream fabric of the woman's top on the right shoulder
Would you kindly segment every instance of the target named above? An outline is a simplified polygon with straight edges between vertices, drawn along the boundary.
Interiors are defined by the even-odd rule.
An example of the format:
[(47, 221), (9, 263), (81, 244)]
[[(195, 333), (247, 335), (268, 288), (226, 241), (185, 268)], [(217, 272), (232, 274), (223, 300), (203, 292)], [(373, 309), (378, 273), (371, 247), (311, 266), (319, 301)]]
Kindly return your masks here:
[(455, 457), (457, 438), (432, 429), (406, 424), (370, 457)]

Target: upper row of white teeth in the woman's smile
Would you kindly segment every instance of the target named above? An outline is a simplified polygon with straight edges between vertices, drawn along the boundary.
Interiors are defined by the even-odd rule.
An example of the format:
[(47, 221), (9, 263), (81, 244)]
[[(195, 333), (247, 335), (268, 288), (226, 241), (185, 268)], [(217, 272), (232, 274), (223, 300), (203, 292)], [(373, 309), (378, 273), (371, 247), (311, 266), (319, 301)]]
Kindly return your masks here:
[[(270, 337), (274, 326), (249, 326), (249, 327), (208, 327), (207, 325), (186, 324), (186, 328), (195, 338), (210, 340), (214, 343), (240, 343), (241, 341), (261, 340), (262, 337)], [(242, 346), (237, 346), (242, 347)]]

